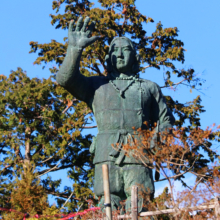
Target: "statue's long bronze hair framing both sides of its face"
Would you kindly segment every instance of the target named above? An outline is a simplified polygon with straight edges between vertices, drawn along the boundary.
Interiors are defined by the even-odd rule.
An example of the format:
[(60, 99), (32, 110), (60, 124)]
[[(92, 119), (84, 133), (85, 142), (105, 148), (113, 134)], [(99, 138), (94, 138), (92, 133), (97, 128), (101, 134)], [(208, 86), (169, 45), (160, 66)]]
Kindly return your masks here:
[(131, 46), (131, 48), (132, 48), (132, 52), (134, 53), (134, 55), (135, 55), (135, 57), (136, 57), (135, 62), (134, 62), (133, 67), (132, 67), (132, 72), (133, 72), (134, 74), (137, 74), (137, 73), (139, 72), (139, 55), (136, 54), (136, 50), (135, 50), (134, 44), (133, 44), (132, 41), (131, 41), (129, 38), (127, 38), (127, 37), (116, 37), (116, 38), (114, 38), (114, 39), (112, 40), (112, 42), (110, 43), (110, 45), (109, 45), (109, 53), (108, 53), (108, 55), (106, 55), (106, 57), (105, 57), (105, 61), (107, 62), (107, 71), (108, 71), (108, 73), (111, 73), (111, 72), (112, 72), (112, 63), (111, 63), (111, 59), (110, 59), (110, 55), (111, 55), (111, 53), (112, 53), (111, 50), (112, 50), (112, 46), (113, 46), (114, 42), (115, 42), (116, 40), (118, 40), (119, 38), (120, 38), (120, 39), (126, 39), (126, 40), (129, 42), (129, 44), (130, 44), (130, 46)]

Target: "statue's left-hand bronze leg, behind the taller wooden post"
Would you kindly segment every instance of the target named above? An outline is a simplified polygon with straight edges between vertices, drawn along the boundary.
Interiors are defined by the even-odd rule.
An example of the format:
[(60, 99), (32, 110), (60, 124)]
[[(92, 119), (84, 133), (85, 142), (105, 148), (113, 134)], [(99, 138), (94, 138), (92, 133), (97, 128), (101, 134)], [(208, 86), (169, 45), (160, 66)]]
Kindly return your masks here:
[(96, 196), (101, 197), (99, 207), (101, 207), (101, 209), (104, 211), (102, 164), (108, 164), (109, 166), (109, 185), (112, 210), (120, 210), (120, 201), (126, 198), (123, 187), (123, 175), (121, 168), (116, 166), (113, 162), (95, 164), (94, 192)]

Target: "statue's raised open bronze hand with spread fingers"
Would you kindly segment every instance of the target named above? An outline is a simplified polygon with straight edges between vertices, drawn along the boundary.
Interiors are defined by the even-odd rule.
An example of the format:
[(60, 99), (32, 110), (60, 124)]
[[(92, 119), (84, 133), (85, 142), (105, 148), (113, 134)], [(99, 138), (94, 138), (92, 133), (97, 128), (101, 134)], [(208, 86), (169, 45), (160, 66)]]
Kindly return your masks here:
[(88, 26), (89, 21), (89, 17), (86, 17), (84, 22), (83, 18), (80, 17), (77, 21), (75, 30), (73, 30), (74, 21), (70, 21), (68, 32), (68, 40), (70, 46), (83, 49), (99, 39), (99, 36), (89, 37), (95, 27), (94, 21)]

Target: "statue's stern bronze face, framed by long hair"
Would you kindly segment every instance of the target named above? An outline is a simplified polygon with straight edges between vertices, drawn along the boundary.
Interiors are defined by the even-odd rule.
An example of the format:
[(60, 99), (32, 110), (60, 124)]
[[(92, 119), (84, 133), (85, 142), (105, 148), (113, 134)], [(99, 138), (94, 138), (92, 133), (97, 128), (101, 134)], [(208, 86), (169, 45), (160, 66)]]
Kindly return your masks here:
[(111, 62), (120, 73), (131, 73), (135, 62), (135, 53), (128, 40), (117, 38), (111, 46)]

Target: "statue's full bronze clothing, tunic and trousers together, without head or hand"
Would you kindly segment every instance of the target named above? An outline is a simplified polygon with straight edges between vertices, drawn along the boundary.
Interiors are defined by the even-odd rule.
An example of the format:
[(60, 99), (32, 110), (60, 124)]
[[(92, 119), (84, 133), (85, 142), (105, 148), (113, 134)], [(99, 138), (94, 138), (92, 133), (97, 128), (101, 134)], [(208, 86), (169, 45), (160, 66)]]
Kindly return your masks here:
[[(95, 154), (95, 194), (104, 194), (102, 163), (107, 163), (111, 198), (118, 201), (118, 206), (123, 199), (127, 199), (126, 204), (130, 204), (132, 185), (140, 184), (145, 191), (150, 191), (153, 195), (152, 170), (138, 164), (140, 162), (134, 157), (126, 157), (120, 147), (126, 144), (128, 139), (138, 138), (133, 128), (147, 129), (143, 122), (148, 122), (149, 127), (157, 123), (159, 131), (172, 127), (174, 118), (159, 86), (136, 77), (122, 80), (99, 76), (85, 77), (81, 74), (72, 78), (58, 74), (57, 81), (76, 98), (86, 102), (94, 113), (98, 135), (94, 138), (90, 151)], [(119, 143), (119, 151), (112, 147), (116, 143)], [(143, 202), (143, 199), (140, 201)]]

